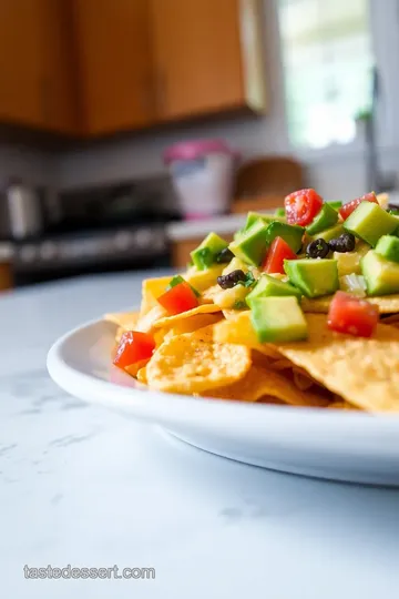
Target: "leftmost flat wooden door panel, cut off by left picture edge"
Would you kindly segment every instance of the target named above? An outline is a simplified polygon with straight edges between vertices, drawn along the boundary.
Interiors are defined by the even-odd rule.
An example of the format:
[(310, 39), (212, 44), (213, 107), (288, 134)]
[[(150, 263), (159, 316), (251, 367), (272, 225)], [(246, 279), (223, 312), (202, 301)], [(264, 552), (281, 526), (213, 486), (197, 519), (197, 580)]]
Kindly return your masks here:
[(0, 1), (0, 121), (43, 128), (41, 0)]

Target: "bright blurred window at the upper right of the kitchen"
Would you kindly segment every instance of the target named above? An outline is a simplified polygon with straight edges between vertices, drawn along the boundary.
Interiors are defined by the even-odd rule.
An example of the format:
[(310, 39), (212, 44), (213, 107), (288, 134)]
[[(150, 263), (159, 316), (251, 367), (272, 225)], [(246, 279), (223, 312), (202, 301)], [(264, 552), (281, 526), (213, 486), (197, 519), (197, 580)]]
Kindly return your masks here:
[(369, 0), (277, 2), (290, 142), (351, 142), (371, 102)]

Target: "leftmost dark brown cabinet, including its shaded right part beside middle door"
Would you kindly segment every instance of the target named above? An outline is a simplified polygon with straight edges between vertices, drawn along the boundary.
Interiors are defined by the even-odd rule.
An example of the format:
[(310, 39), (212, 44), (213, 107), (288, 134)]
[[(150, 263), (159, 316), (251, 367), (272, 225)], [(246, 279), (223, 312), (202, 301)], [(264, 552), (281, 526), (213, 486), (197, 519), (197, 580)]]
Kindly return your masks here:
[(75, 130), (68, 1), (1, 0), (1, 123)]

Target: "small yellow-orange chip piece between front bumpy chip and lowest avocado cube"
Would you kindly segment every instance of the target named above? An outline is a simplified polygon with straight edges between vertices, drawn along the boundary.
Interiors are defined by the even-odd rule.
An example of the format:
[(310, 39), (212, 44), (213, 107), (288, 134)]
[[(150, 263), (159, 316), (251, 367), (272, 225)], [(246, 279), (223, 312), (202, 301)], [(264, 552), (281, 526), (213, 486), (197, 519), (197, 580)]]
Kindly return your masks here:
[(235, 312), (235, 317), (221, 321), (214, 326), (214, 341), (217, 343), (238, 343), (270, 357), (280, 357), (276, 347), (269, 343), (259, 343), (250, 324), (250, 312)]

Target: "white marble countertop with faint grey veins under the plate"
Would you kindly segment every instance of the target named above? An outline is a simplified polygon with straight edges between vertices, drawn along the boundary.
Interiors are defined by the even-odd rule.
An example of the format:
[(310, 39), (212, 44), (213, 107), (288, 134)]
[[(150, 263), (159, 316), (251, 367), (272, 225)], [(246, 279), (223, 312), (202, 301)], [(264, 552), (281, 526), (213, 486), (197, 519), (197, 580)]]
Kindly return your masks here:
[[(393, 599), (399, 490), (249, 467), (66, 396), (45, 354), (137, 302), (142, 275), (0, 298), (0, 546), (7, 599)], [(23, 567), (155, 568), (155, 580), (37, 580)]]

